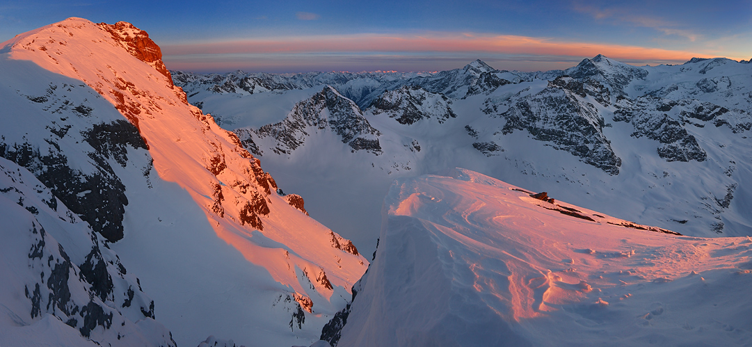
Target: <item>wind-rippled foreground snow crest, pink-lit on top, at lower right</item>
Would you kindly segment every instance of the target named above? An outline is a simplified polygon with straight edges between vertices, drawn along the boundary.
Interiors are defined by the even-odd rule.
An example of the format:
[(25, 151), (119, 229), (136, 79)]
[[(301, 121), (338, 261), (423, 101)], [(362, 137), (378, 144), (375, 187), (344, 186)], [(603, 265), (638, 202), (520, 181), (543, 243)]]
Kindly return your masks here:
[(749, 237), (668, 234), (445, 175), (391, 187), (338, 345), (752, 343)]

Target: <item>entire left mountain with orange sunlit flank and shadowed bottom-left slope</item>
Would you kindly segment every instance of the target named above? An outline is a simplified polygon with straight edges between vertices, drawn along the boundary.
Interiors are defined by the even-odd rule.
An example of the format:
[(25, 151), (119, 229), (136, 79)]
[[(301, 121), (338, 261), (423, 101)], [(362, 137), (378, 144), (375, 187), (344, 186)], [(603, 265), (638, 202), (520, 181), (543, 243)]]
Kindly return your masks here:
[[(19, 205), (43, 214), (8, 207), (4, 224), (8, 217), (14, 228), (3, 231), (21, 233), (13, 245), (62, 245), (40, 248), (40, 259), (33, 249), (26, 256), (29, 246), (7, 253), (22, 272), (3, 287), (20, 293), (0, 297), (4, 330), (78, 336), (70, 326), (97, 342), (135, 331), (144, 337), (123, 343), (170, 345), (169, 330), (180, 345), (210, 335), (293, 345), (317, 339), (350, 300), (368, 261), (311, 219), (300, 195), (284, 195), (235, 134), (186, 101), (146, 32), (71, 18), (0, 47), (0, 156), (38, 180), (2, 189), (59, 201), (55, 210), (23, 198)], [(16, 199), (13, 192), (6, 194)], [(59, 213), (75, 228), (50, 224)], [(34, 234), (35, 225), (47, 234)], [(47, 276), (75, 287), (71, 299), (56, 297), (64, 295), (57, 283), (32, 281)], [(155, 315), (164, 327), (146, 318)]]

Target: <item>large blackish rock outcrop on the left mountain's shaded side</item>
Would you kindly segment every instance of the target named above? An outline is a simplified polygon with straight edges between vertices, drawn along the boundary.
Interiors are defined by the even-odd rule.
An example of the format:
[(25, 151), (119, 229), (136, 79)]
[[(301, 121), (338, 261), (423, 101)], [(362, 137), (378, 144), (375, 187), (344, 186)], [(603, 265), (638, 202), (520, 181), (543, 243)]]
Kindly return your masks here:
[[(52, 93), (38, 107), (50, 107), (61, 101)], [(62, 100), (65, 103), (65, 99)], [(92, 109), (90, 109), (92, 110)], [(73, 117), (87, 117), (81, 113), (68, 113)], [(70, 119), (72, 121), (72, 119)], [(63, 204), (68, 206), (107, 240), (114, 242), (123, 237), (123, 213), (128, 205), (125, 186), (111, 164), (126, 167), (128, 153), (146, 149), (136, 128), (124, 119), (102, 122), (90, 128), (80, 128), (68, 117), (51, 122), (47, 131), (48, 146), (32, 142), (0, 141), (0, 157), (14, 161), (35, 173)], [(77, 132), (68, 132), (73, 129)], [(5, 139), (5, 136), (3, 137)], [(61, 146), (69, 142), (89, 144), (83, 149), (89, 161), (73, 164)], [(78, 167), (78, 168), (74, 168)]]

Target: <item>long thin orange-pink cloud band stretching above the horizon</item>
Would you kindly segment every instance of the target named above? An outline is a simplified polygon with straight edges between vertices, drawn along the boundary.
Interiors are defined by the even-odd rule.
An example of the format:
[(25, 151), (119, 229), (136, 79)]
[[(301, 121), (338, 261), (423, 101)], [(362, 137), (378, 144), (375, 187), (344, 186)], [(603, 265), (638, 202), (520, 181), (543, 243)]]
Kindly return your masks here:
[(423, 35), (317, 35), (194, 44), (163, 44), (162, 52), (167, 56), (368, 52), (478, 52), (574, 57), (592, 57), (603, 54), (614, 59), (665, 62), (685, 62), (693, 56), (715, 56), (713, 53), (559, 41), (552, 38), (442, 32), (430, 32)]

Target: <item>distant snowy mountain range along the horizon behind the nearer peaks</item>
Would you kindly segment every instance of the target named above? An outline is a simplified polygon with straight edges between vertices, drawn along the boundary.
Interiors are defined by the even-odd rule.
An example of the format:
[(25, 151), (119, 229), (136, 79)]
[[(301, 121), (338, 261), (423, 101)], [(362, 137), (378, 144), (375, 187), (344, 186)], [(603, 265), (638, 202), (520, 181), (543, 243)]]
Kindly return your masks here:
[[(232, 118), (236, 112), (222, 104), (238, 104), (238, 96), (258, 95), (264, 92), (285, 93), (296, 90), (333, 86), (342, 95), (365, 109), (387, 90), (401, 86), (420, 86), (429, 92), (441, 93), (452, 98), (484, 94), (498, 86), (532, 80), (538, 75), (547, 77), (561, 74), (561, 71), (529, 73), (520, 71), (499, 71), (485, 62), (476, 60), (464, 68), (450, 71), (432, 72), (308, 72), (305, 74), (265, 74), (244, 71), (226, 74), (194, 74), (186, 71), (172, 71), (176, 86), (180, 86), (189, 98), (199, 107), (222, 108), (223, 117)], [(542, 77), (541, 77), (542, 78)], [(233, 95), (232, 98), (219, 95)], [(193, 101), (195, 100), (195, 101)]]

